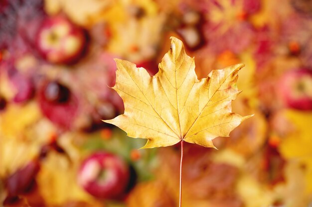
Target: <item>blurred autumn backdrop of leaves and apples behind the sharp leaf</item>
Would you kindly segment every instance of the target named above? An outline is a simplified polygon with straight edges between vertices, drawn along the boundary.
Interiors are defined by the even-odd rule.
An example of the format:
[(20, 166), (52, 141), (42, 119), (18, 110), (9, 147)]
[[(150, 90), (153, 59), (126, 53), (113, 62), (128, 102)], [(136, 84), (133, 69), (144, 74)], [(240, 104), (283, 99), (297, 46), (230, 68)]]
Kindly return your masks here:
[(232, 106), (255, 114), (218, 150), (185, 145), (183, 206), (311, 205), (311, 0), (0, 0), (3, 206), (178, 205), (179, 145), (101, 121), (123, 113), (113, 58), (153, 75), (170, 36), (198, 78), (244, 63)]

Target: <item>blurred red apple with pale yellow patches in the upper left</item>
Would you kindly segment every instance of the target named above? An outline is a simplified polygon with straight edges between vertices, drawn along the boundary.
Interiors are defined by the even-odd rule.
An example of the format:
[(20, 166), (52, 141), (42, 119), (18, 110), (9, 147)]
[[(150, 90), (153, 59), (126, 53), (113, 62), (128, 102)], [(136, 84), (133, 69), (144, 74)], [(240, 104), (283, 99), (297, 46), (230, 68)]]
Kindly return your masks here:
[(50, 63), (72, 63), (86, 46), (84, 30), (62, 16), (45, 19), (37, 36), (37, 49)]

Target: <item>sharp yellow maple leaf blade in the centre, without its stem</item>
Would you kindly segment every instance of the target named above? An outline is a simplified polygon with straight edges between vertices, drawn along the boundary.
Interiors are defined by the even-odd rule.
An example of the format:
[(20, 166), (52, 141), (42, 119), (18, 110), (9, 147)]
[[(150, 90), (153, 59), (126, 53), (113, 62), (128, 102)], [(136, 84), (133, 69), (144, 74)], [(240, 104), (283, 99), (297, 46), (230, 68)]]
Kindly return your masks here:
[(123, 98), (125, 113), (105, 122), (129, 137), (147, 138), (142, 148), (170, 146), (181, 140), (214, 147), (213, 138), (229, 136), (250, 117), (231, 109), (231, 101), (240, 93), (236, 81), (243, 64), (212, 70), (198, 80), (194, 58), (186, 55), (183, 43), (174, 37), (152, 77), (135, 64), (115, 61), (118, 69), (113, 89)]

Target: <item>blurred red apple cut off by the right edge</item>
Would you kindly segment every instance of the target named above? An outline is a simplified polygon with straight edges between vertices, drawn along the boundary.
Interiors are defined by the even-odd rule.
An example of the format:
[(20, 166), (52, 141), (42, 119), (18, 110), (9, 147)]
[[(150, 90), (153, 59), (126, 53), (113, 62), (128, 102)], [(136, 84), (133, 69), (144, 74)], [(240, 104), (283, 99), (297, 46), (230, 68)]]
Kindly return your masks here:
[(312, 110), (312, 70), (298, 69), (285, 73), (279, 88), (287, 107)]

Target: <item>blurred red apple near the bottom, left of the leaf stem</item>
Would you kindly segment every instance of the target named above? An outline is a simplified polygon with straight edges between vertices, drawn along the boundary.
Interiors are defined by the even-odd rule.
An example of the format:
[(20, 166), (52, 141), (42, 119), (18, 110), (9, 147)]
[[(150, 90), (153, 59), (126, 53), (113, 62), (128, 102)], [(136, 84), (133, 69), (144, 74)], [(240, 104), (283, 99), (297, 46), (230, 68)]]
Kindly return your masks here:
[(129, 167), (120, 157), (96, 152), (82, 163), (78, 183), (97, 198), (117, 199), (125, 193), (129, 178)]

